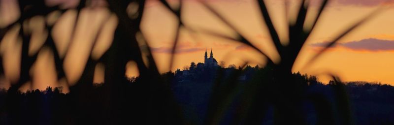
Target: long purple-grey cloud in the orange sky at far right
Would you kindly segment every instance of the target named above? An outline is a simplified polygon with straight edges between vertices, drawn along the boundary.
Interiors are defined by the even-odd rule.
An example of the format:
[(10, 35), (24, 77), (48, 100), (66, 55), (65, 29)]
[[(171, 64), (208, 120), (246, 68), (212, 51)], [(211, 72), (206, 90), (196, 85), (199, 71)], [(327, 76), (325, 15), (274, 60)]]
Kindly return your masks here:
[[(328, 44), (328, 42), (321, 42), (321, 43), (311, 44), (311, 46), (324, 47), (327, 44)], [(338, 43), (338, 44), (336, 44), (336, 46), (332, 46), (332, 47), (337, 47), (337, 46), (341, 46), (341, 47), (351, 49), (351, 50), (356, 50), (356, 51), (372, 51), (372, 52), (392, 51), (392, 50), (394, 50), (394, 41), (369, 38), (369, 39), (362, 39), (360, 41)]]

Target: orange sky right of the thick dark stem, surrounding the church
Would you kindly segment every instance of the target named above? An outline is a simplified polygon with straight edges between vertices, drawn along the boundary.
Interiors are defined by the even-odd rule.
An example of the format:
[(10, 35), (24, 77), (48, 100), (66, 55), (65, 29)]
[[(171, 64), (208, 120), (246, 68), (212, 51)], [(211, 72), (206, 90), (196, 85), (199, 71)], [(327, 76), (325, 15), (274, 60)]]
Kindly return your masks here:
[[(183, 11), (183, 21), (193, 28), (210, 29), (231, 35), (233, 32), (226, 27), (217, 17), (209, 13), (200, 3), (186, 0)], [(289, 15), (294, 12), (297, 0), (289, 0), (291, 8)], [(320, 0), (315, 0), (319, 2)], [(334, 73), (344, 81), (369, 81), (382, 82), (394, 85), (394, 6), (393, 0), (331, 0), (328, 8), (323, 13), (316, 31), (308, 39), (301, 51), (294, 72), (308, 73), (320, 76), (327, 82), (328, 78), (322, 75)], [(281, 35), (281, 40), (286, 41), (286, 16), (284, 0), (265, 0), (274, 25)], [(245, 37), (254, 45), (261, 48), (274, 60), (278, 60), (272, 50), (273, 45), (268, 37), (263, 19), (258, 11), (255, 0), (212, 0), (209, 2), (230, 23), (234, 24)], [(141, 26), (153, 48), (153, 53), (161, 71), (168, 70), (168, 59), (171, 43), (173, 42), (176, 26), (175, 17), (164, 6), (155, 0), (150, 0), (146, 8), (144, 23)], [(372, 17), (361, 27), (340, 39), (340, 45), (330, 49), (313, 65), (301, 69), (305, 62), (313, 56), (322, 43), (332, 40), (338, 33), (346, 30), (350, 25), (359, 21), (378, 7), (388, 7)], [(313, 9), (316, 10), (316, 7)], [(310, 15), (313, 15), (311, 11)], [(291, 16), (289, 17), (291, 20)], [(239, 64), (240, 60), (264, 62), (261, 57), (256, 58), (255, 52), (242, 47), (239, 43), (213, 37), (207, 34), (191, 33), (182, 29), (178, 53), (175, 57), (175, 67), (181, 68), (190, 62), (203, 62), (205, 48), (213, 49), (214, 57), (226, 64)]]

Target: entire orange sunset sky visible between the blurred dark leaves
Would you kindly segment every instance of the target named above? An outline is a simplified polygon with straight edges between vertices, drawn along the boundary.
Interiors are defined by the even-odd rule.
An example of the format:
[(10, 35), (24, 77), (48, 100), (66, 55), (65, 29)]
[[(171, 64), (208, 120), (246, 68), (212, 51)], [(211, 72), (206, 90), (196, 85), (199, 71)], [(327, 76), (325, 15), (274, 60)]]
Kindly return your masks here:
[[(0, 7), (0, 27), (15, 18), (17, 12), (13, 12), (13, 0), (1, 0)], [(55, 0), (56, 1), (56, 0)], [(57, 0), (64, 1), (64, 0)], [(74, 0), (71, 0), (74, 1)], [(228, 36), (234, 36), (234, 31), (228, 28), (221, 20), (204, 8), (196, 0), (184, 0), (182, 21), (187, 27), (197, 30), (197, 32), (188, 31), (181, 28), (180, 40), (177, 46), (174, 66), (169, 69), (170, 47), (174, 42), (174, 34), (177, 25), (177, 17), (167, 10), (158, 0), (147, 0), (143, 14), (141, 32), (148, 41), (153, 56), (161, 72), (176, 70), (191, 62), (203, 63), (205, 49), (213, 50), (213, 56), (218, 61), (229, 64), (240, 64), (242, 61), (250, 62), (250, 65), (264, 65), (265, 59), (254, 50), (245, 45), (229, 41), (223, 38), (215, 37), (209, 34), (198, 32), (198, 30), (210, 30), (220, 32)], [(278, 31), (281, 41), (286, 44), (287, 30), (286, 24), (292, 22), (296, 16), (296, 7), (298, 0), (288, 0), (290, 8), (289, 16), (286, 16), (286, 0), (264, 0), (276, 30)], [(169, 0), (172, 6), (177, 6), (177, 0)], [(269, 57), (278, 62), (280, 58), (273, 49), (273, 44), (267, 33), (263, 18), (260, 14), (258, 4), (255, 0), (207, 0), (220, 14), (233, 24), (242, 35), (246, 37), (259, 49), (266, 52)], [(312, 19), (317, 6), (313, 6), (308, 12), (308, 19)], [(303, 47), (293, 68), (294, 72), (300, 71), (317, 75), (321, 81), (327, 82), (326, 73), (339, 75), (343, 81), (368, 81), (382, 82), (394, 85), (394, 0), (331, 0), (323, 12), (321, 19), (318, 21), (316, 30), (313, 32), (307, 43)], [(71, 3), (69, 3), (71, 4)], [(7, 7), (4, 7), (8, 5)], [(72, 6), (72, 5), (70, 5)], [(104, 5), (105, 6), (105, 5)], [(321, 58), (311, 65), (304, 66), (309, 59), (321, 49), (324, 42), (332, 40), (338, 33), (347, 30), (352, 24), (356, 23), (377, 8), (383, 7), (370, 20), (352, 31), (349, 35), (340, 39), (340, 43), (329, 49)], [(56, 14), (54, 14), (56, 15)], [(75, 38), (72, 40), (70, 51), (64, 53), (68, 37), (71, 34), (73, 26), (72, 20), (75, 18), (75, 11), (69, 10), (63, 15), (59, 15), (59, 21), (55, 24), (54, 35), (55, 42), (61, 56), (65, 57), (66, 77), (68, 81), (73, 82), (78, 79), (83, 69), (84, 62), (89, 56), (90, 46), (94, 35), (98, 32), (97, 27), (104, 25), (104, 30), (100, 35), (100, 42), (93, 49), (92, 58), (98, 58), (108, 49), (113, 31), (117, 25), (117, 18), (111, 14), (105, 7), (94, 9), (84, 9), (81, 12), (81, 19), (77, 23)], [(16, 16), (17, 17), (17, 16)], [(44, 17), (36, 17), (32, 23), (43, 23)], [(108, 19), (108, 20), (106, 20)], [(105, 22), (103, 22), (105, 21)], [(306, 24), (310, 24), (310, 20)], [(306, 25), (308, 26), (308, 25)], [(20, 26), (19, 26), (20, 27)], [(7, 87), (9, 81), (18, 78), (20, 59), (20, 46), (16, 34), (18, 28), (10, 30), (1, 42), (0, 54), (3, 56), (5, 76), (1, 77), (0, 87)], [(32, 70), (33, 80), (27, 83), (27, 86), (33, 88), (45, 88), (47, 85), (64, 86), (65, 80), (57, 81), (54, 75), (53, 55), (48, 50), (34, 50), (40, 46), (40, 35), (48, 34), (40, 30), (39, 26), (33, 27), (33, 36), (37, 34), (36, 42), (31, 46), (31, 53), (39, 53), (38, 60)], [(34, 39), (34, 38), (33, 38)], [(33, 42), (33, 40), (32, 40)], [(37, 47), (38, 46), (38, 47)], [(18, 50), (19, 49), (19, 50)], [(18, 53), (19, 52), (19, 53)], [(63, 53), (62, 53), (63, 52)], [(98, 66), (102, 67), (102, 65)], [(132, 68), (132, 66), (129, 66)], [(97, 71), (99, 74), (99, 70)], [(135, 75), (132, 71), (128, 72), (129, 76)], [(97, 78), (96, 82), (102, 81)], [(36, 86), (37, 83), (52, 83)], [(72, 83), (68, 83), (72, 85)]]

